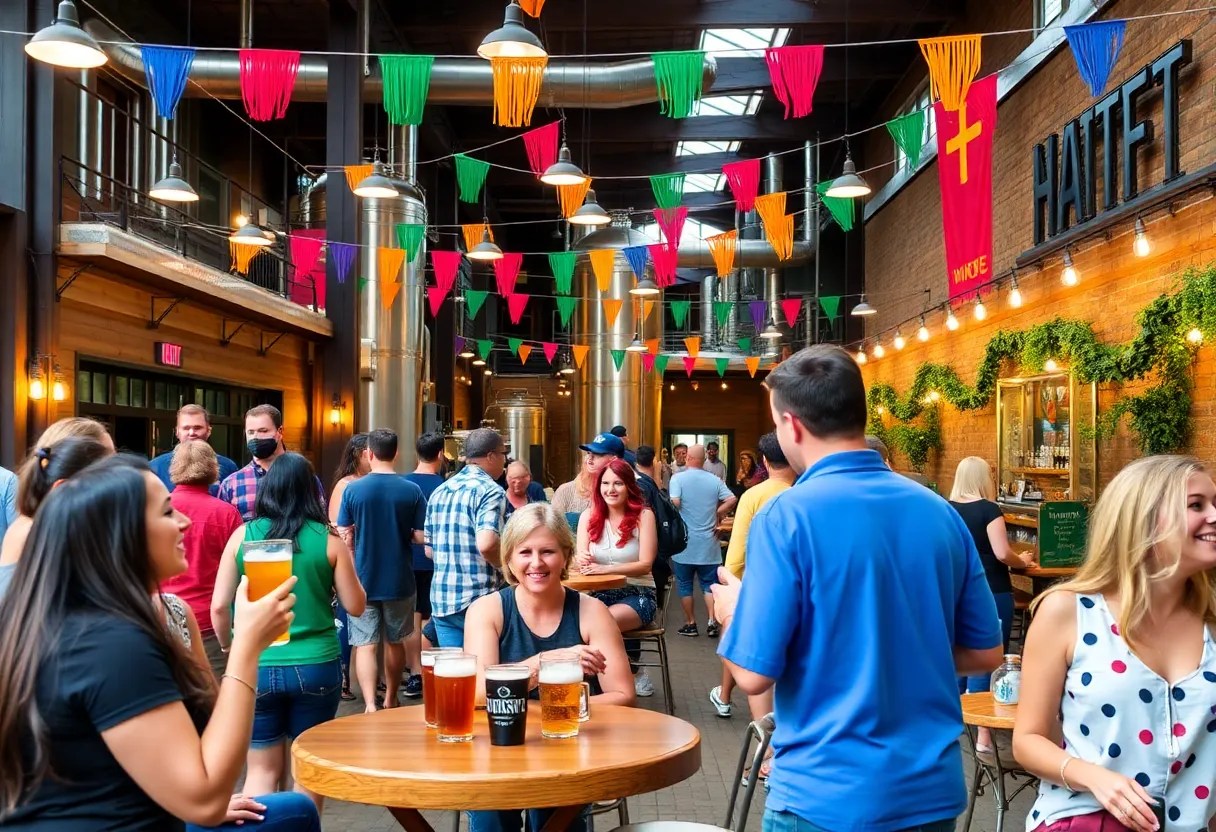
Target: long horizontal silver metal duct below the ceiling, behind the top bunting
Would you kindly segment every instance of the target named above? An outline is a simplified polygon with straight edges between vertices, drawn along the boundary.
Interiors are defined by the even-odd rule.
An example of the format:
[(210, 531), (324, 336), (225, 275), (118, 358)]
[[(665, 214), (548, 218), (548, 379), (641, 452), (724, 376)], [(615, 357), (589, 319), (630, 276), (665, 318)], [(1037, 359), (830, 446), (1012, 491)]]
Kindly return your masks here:
[[(122, 43), (125, 39), (102, 21), (90, 19), (84, 28), (102, 41), (101, 49), (116, 72), (136, 84), (145, 83), (143, 58), (139, 46)], [(303, 56), (292, 100), (325, 101), (328, 71), (330, 62), (325, 56)], [(713, 88), (716, 78), (717, 62), (706, 55), (702, 81), (705, 91)], [(186, 85), (186, 97), (212, 95), (216, 99), (240, 99), (241, 62), (236, 50), (198, 52), (190, 80), (193, 83)], [(381, 90), (381, 77), (378, 72), (373, 72), (364, 81), (364, 94), (370, 100), (376, 100)], [(579, 58), (557, 58), (551, 60), (545, 68), (545, 81), (537, 103), (545, 107), (619, 109), (658, 100), (653, 61), (637, 58), (589, 64)], [(435, 58), (427, 101), (434, 105), (491, 105), (494, 75), (490, 62), (475, 56)]]

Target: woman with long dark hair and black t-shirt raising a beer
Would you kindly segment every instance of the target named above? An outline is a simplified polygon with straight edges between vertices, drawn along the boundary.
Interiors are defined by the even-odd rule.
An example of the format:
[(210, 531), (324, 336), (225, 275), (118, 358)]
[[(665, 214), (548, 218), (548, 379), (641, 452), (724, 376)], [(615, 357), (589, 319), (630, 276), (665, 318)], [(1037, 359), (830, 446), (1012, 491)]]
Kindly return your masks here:
[(159, 831), (257, 817), (230, 811), (232, 788), (258, 654), (291, 623), (295, 579), (255, 602), (242, 583), (216, 691), (156, 597), (186, 568), (188, 525), (129, 457), (90, 466), (39, 508), (0, 601), (0, 825)]

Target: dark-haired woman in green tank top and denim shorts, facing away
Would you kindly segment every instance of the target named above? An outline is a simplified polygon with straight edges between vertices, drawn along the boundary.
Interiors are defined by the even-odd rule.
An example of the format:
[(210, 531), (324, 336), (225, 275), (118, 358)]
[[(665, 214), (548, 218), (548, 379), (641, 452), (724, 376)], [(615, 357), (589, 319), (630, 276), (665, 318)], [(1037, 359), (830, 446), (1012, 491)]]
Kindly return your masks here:
[[(283, 454), (258, 482), (257, 519), (237, 529), (224, 550), (212, 618), (221, 645), (232, 639), (231, 608), (244, 575), (244, 543), (291, 540), (295, 575), (291, 640), (263, 651), (258, 664), (258, 701), (249, 742), (244, 791), (266, 794), (283, 787), (287, 751), (300, 733), (334, 718), (342, 688), (338, 633), (333, 622), (334, 591), (342, 606), (361, 615), (367, 603), (354, 557), (330, 525), (316, 493), (313, 465), (299, 454)], [(322, 798), (309, 793), (321, 809)]]

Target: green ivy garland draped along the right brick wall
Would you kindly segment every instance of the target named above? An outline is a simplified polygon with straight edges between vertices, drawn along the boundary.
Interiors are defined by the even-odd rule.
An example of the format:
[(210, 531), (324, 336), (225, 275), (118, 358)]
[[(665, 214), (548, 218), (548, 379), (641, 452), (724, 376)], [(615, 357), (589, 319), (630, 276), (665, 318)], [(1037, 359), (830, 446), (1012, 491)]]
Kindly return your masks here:
[[(1126, 344), (1104, 344), (1087, 321), (1055, 317), (1026, 330), (1001, 330), (984, 349), (968, 386), (947, 364), (925, 361), (917, 367), (912, 387), (900, 397), (886, 383), (868, 393), (869, 432), (889, 448), (908, 457), (923, 471), (930, 450), (941, 450), (938, 401), (958, 410), (979, 410), (992, 401), (1001, 366), (1017, 361), (1029, 375), (1042, 372), (1048, 360), (1066, 362), (1082, 383), (1116, 384), (1152, 377), (1154, 383), (1138, 395), (1118, 400), (1093, 426), (1099, 437), (1114, 434), (1119, 421), (1130, 416), (1130, 427), (1143, 454), (1169, 454), (1190, 439), (1190, 365), (1198, 344), (1193, 331), (1216, 335), (1216, 264), (1190, 268), (1178, 288), (1161, 294), (1136, 316), (1139, 327)], [(897, 422), (885, 427), (884, 412)], [(922, 418), (923, 417), (923, 418)]]

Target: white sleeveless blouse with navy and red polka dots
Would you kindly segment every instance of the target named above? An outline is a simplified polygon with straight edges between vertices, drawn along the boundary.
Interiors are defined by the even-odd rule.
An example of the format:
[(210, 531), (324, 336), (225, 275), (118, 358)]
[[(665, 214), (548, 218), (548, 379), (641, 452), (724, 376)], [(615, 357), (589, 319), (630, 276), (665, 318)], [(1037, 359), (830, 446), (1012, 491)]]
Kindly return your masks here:
[[(1170, 685), (1128, 650), (1100, 595), (1077, 596), (1076, 626), (1060, 703), (1064, 749), (1143, 786), (1164, 803), (1166, 832), (1206, 832), (1216, 813), (1211, 634), (1204, 630), (1199, 669)], [(1026, 830), (1100, 810), (1088, 792), (1042, 782)]]

